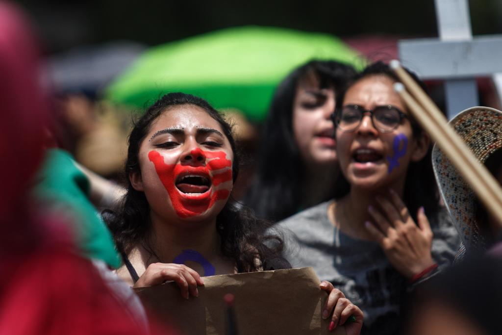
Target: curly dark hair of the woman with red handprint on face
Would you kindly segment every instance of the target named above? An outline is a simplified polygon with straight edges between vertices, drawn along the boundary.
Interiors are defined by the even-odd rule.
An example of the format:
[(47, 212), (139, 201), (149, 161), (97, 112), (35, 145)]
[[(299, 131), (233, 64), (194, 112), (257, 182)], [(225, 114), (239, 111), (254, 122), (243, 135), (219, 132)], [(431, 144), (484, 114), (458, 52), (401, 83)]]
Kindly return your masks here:
[[(162, 114), (169, 113), (173, 106), (186, 104), (201, 107), (221, 126), (234, 154), (232, 177), (235, 181), (239, 172), (239, 152), (235, 147), (231, 126), (207, 101), (184, 93), (169, 93), (162, 96), (135, 123), (129, 137), (125, 168), (127, 176), (131, 172), (140, 172), (138, 159), (140, 145), (153, 122)], [(121, 205), (116, 211), (105, 210), (103, 217), (122, 255), (127, 255), (132, 248), (141, 243), (153, 256), (156, 256), (149, 248), (146, 239), (151, 227), (150, 205), (145, 193), (134, 189), (129, 178), (126, 179), (128, 180), (127, 194)], [(269, 227), (269, 222), (257, 219), (251, 209), (237, 205), (233, 199), (229, 199), (216, 217), (216, 229), (221, 237), (222, 254), (235, 260), (239, 272), (288, 267), (287, 262), (284, 263), (279, 256), (283, 248), (282, 239), (279, 236), (265, 235)], [(266, 241), (272, 243), (265, 245)], [(272, 245), (274, 248), (268, 247)]]

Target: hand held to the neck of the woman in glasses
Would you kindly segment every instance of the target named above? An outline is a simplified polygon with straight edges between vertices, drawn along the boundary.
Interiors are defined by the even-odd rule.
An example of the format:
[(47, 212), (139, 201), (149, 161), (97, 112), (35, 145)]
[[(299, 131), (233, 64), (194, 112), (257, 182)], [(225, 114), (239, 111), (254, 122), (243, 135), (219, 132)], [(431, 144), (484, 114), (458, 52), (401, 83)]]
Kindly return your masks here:
[(424, 208), (418, 210), (418, 226), (394, 190), (389, 197), (376, 197), (384, 214), (373, 207), (368, 211), (375, 224), (366, 222), (368, 233), (382, 247), (391, 264), (408, 279), (434, 264), (431, 255), (432, 230)]

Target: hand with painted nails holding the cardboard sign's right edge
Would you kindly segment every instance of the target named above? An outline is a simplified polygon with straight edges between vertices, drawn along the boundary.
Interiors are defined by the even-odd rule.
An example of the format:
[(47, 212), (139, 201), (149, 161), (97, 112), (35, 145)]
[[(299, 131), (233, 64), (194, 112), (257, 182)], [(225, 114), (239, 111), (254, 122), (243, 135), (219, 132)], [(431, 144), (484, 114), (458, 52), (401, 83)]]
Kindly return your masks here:
[[(343, 325), (347, 335), (359, 335), (363, 320), (363, 314), (359, 307), (345, 298), (342, 291), (334, 288), (330, 282), (323, 280), (320, 287), (329, 294), (322, 310), (322, 318), (327, 319), (331, 312), (333, 312), (331, 322), (329, 323), (329, 331)], [(353, 316), (355, 321), (346, 323), (350, 316)]]

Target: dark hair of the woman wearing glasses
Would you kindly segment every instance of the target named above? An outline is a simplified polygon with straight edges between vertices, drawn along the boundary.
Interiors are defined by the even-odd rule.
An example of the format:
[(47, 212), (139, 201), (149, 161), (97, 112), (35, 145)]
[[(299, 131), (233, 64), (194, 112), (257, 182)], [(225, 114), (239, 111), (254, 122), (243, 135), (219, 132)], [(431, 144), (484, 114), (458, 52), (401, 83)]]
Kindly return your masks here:
[[(420, 85), (420, 87), (426, 93), (428, 93), (425, 83), (420, 80), (414, 72), (406, 68), (405, 70)], [(364, 70), (362, 70), (362, 72), (352, 77), (352, 79), (346, 83), (345, 88), (340, 94), (340, 101), (342, 102), (340, 106), (343, 104), (345, 93), (348, 88), (350, 88), (357, 81), (363, 78), (378, 75), (387, 76), (394, 81), (399, 81), (399, 78), (394, 73), (394, 71), (391, 70), (388, 64), (382, 61), (369, 64)], [(424, 130), (413, 119), (413, 116), (410, 115), (409, 117), (413, 135), (419, 136)], [(432, 169), (431, 154), (432, 144), (429, 146), (427, 154), (424, 156), (424, 158), (422, 158), (418, 162), (410, 162), (406, 174), (403, 201), (407, 205), (410, 214), (415, 220), (417, 219), (416, 213), (420, 206), (424, 206), (426, 213), (435, 213), (439, 209), (439, 192), (436, 184), (436, 179), (434, 177), (434, 171)], [(350, 190), (350, 184), (341, 173), (339, 174), (338, 180), (336, 181), (336, 186), (337, 187), (334, 196), (335, 199), (340, 199), (344, 195), (348, 194)]]

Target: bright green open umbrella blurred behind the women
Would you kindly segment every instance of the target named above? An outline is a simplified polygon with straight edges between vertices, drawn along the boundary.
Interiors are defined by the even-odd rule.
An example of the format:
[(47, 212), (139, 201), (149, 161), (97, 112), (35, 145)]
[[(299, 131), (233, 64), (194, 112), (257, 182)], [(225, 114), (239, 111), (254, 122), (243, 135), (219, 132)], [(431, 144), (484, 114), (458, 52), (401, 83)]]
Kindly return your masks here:
[(313, 58), (361, 65), (336, 37), (280, 28), (229, 28), (153, 47), (117, 77), (105, 98), (143, 109), (162, 94), (181, 91), (215, 108), (237, 108), (263, 120), (277, 84)]

